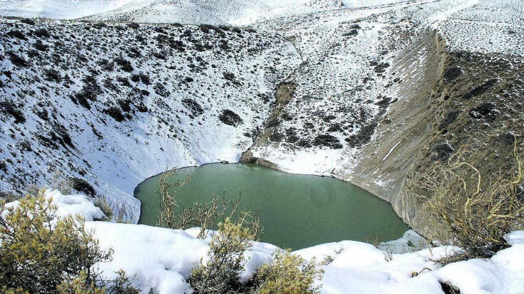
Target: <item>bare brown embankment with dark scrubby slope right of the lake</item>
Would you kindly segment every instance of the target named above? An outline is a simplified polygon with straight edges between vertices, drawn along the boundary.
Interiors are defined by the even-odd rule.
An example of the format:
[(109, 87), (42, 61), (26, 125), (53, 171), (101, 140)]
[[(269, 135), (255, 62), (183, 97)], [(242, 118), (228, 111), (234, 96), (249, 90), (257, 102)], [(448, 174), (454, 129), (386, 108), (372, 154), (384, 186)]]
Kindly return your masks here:
[(516, 135), (522, 148), (524, 60), (449, 50), (432, 31), (396, 64), (403, 76), (395, 87), (398, 100), (380, 121), (376, 139), (359, 151), (362, 160), (353, 173), (340, 175), (391, 202), (412, 228), (429, 235), (435, 228), (425, 203), (432, 195), (420, 186), (435, 164), (463, 147), (471, 151), (463, 160), (479, 169), (484, 184), (517, 169), (513, 146)]

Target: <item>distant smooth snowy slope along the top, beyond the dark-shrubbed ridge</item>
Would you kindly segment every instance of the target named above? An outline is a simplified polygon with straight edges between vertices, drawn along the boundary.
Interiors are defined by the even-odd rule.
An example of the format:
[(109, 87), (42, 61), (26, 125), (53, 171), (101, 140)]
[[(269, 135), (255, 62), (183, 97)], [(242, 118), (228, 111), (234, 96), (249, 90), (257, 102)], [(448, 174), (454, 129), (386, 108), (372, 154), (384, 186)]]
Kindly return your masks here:
[(325, 9), (385, 6), (407, 0), (0, 0), (0, 15), (52, 19), (248, 25)]

